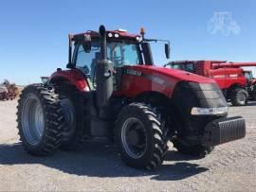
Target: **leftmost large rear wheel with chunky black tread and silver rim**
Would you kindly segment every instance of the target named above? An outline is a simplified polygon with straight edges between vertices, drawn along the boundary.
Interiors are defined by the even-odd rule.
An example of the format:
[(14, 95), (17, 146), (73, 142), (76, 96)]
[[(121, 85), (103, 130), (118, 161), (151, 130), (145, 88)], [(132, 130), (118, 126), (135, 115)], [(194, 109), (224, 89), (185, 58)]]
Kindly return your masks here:
[[(32, 105), (29, 102), (37, 104)], [(42, 113), (37, 116), (36, 114), (33, 115), (34, 112), (37, 112), (33, 106), (40, 108)], [(18, 100), (17, 110), (20, 140), (28, 153), (42, 156), (60, 147), (64, 128), (64, 114), (59, 96), (54, 93), (53, 89), (45, 88), (41, 84), (28, 85)], [(42, 122), (44, 121), (44, 123), (41, 122), (43, 131), (36, 140), (31, 128), (40, 127), (38, 119), (41, 115), (43, 115), (41, 117)]]

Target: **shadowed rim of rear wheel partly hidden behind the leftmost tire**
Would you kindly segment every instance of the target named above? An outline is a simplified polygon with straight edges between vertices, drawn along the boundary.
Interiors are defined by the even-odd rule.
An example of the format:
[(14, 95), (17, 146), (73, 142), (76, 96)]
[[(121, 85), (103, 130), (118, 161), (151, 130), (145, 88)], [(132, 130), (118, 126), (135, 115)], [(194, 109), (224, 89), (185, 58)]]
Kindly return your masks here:
[(72, 101), (65, 97), (61, 100), (61, 105), (64, 112), (64, 131), (63, 131), (63, 141), (69, 140), (76, 128), (76, 121), (75, 121), (75, 108)]

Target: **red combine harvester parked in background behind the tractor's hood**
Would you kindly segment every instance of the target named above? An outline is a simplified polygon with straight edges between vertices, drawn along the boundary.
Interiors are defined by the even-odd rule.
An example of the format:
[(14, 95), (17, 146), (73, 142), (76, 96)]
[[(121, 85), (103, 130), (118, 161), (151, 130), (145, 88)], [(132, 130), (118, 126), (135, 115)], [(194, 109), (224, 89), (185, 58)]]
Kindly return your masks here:
[(256, 99), (256, 81), (251, 72), (241, 68), (256, 66), (256, 62), (171, 61), (165, 66), (214, 79), (234, 106)]

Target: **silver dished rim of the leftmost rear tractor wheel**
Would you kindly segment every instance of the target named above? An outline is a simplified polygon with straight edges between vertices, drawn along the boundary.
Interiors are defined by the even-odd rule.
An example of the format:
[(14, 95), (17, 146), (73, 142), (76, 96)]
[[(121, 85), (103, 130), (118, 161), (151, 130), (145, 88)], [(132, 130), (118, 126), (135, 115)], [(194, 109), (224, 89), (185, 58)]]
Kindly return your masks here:
[(29, 95), (22, 110), (22, 129), (27, 143), (40, 143), (45, 131), (45, 114), (37, 96)]

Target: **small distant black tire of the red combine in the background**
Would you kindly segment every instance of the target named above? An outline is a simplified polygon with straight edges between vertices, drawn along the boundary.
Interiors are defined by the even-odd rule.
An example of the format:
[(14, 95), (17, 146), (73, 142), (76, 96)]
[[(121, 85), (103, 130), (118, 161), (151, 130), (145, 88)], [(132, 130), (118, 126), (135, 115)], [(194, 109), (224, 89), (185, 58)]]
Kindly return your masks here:
[(244, 106), (248, 102), (247, 90), (237, 87), (231, 91), (231, 103), (233, 106)]

